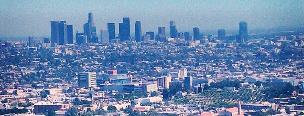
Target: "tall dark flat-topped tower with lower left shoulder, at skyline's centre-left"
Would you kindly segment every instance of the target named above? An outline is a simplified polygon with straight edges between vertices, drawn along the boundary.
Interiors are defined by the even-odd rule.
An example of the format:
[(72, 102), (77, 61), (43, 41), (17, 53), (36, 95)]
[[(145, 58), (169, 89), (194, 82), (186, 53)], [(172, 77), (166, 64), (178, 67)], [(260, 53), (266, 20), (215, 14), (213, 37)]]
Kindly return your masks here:
[(121, 41), (130, 40), (130, 18), (124, 17), (123, 22), (119, 23), (119, 38)]

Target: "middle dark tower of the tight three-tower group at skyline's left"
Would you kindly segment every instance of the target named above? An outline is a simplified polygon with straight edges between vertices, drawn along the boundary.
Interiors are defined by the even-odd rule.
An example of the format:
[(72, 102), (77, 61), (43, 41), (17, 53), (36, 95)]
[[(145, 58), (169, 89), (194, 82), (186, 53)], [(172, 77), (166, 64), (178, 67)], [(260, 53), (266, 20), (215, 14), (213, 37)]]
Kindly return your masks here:
[(58, 25), (58, 44), (64, 45), (68, 43), (68, 30), (67, 30), (67, 22), (66, 21), (60, 21)]

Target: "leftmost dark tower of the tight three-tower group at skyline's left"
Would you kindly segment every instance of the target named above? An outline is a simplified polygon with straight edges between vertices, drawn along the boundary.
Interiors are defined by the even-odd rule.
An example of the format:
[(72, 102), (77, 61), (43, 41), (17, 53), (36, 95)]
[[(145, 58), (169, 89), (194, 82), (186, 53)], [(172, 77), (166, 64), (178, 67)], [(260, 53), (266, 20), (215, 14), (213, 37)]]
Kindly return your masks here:
[(51, 42), (52, 42), (52, 46), (55, 46), (58, 44), (58, 39), (59, 39), (59, 35), (58, 35), (58, 25), (59, 25), (60, 21), (51, 21)]

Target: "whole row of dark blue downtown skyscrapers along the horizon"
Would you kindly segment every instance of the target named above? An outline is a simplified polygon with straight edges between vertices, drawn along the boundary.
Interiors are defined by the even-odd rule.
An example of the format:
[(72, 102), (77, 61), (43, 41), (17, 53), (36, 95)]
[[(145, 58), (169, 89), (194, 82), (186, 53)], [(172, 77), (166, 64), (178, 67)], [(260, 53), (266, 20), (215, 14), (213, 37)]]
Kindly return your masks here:
[[(108, 23), (108, 29), (100, 29), (100, 41), (96, 35), (96, 27), (94, 26), (93, 14), (88, 13), (88, 21), (83, 25), (83, 32), (76, 32), (76, 43), (87, 43), (87, 42), (117, 42), (117, 41), (129, 41), (130, 37), (130, 18), (124, 17), (123, 22), (119, 23), (119, 34), (115, 37), (115, 23)], [(224, 38), (226, 36), (225, 30), (218, 30), (218, 38)], [(239, 35), (236, 37), (236, 42), (246, 41), (248, 36), (247, 23), (239, 23)], [(135, 40), (158, 40), (165, 41), (165, 27), (158, 27), (158, 35), (154, 36), (154, 32), (146, 32), (145, 36), (142, 36), (141, 22), (135, 22)], [(193, 28), (193, 38), (189, 32), (178, 33), (175, 22), (170, 21), (170, 38), (179, 38), (185, 40), (202, 40), (203, 37), (200, 35), (200, 29), (198, 27)], [(68, 25), (66, 21), (51, 21), (51, 45), (64, 45), (74, 43), (73, 40), (73, 25)]]

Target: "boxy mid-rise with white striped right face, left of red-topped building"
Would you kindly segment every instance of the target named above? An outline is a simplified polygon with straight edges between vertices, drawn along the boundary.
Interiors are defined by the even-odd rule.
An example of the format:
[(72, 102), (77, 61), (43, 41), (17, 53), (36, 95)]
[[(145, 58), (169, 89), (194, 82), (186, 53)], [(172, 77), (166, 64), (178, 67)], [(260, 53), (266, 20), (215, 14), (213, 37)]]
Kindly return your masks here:
[(78, 74), (78, 87), (96, 87), (96, 72)]

